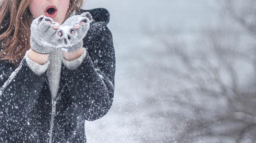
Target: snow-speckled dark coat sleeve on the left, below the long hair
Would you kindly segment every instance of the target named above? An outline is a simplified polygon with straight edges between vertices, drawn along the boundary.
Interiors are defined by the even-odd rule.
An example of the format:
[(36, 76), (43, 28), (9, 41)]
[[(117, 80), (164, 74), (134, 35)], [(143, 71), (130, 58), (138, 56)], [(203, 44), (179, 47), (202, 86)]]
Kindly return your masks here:
[(15, 125), (30, 113), (46, 78), (33, 72), (24, 58), (19, 66), (0, 61), (0, 125)]

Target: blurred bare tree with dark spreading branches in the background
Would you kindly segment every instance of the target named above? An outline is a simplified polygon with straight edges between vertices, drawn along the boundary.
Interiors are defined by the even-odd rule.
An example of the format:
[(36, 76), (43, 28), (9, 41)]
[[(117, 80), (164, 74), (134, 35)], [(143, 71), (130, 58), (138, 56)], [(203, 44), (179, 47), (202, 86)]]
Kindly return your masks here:
[(203, 30), (193, 49), (177, 38), (179, 31), (171, 28), (163, 35), (145, 26), (144, 32), (157, 35), (179, 65), (171, 73), (182, 88), (173, 90), (171, 99), (179, 105), (184, 126), (168, 141), (256, 142), (256, 1), (220, 4), (227, 21), (234, 23)]

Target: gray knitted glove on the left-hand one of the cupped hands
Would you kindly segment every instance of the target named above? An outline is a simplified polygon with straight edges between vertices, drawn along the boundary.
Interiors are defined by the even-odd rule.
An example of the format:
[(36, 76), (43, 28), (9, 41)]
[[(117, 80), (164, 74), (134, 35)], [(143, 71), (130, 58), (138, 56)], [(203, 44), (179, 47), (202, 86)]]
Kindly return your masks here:
[(37, 53), (50, 53), (57, 45), (63, 44), (63, 37), (58, 35), (59, 23), (44, 15), (32, 21), (30, 26), (30, 46)]

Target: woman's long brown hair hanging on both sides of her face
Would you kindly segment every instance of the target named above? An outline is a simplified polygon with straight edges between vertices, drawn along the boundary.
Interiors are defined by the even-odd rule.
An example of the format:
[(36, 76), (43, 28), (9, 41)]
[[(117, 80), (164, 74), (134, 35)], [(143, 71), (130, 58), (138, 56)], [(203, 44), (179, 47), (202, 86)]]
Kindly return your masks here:
[[(9, 60), (15, 66), (30, 49), (29, 3), (30, 0), (0, 0), (0, 60)], [(65, 20), (82, 5), (83, 0), (70, 0)]]

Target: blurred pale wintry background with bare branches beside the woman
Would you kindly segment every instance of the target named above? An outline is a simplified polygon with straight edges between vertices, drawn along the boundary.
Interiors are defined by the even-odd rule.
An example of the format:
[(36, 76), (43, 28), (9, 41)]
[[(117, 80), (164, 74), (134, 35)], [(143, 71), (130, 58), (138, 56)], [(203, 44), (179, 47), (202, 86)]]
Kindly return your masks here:
[(88, 143), (256, 142), (256, 1), (85, 0), (106, 8), (109, 112)]

